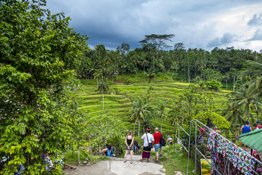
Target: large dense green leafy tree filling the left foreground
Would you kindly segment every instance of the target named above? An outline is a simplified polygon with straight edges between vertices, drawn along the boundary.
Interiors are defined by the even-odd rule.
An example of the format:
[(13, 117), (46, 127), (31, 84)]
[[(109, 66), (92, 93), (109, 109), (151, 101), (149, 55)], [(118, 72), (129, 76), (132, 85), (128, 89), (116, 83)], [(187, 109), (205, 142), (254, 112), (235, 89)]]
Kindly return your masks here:
[[(0, 174), (45, 174), (43, 153), (61, 154), (80, 118), (68, 105), (79, 88), (74, 68), (86, 36), (45, 0), (0, 1)], [(69, 142), (67, 142), (69, 141)], [(60, 170), (61, 171), (61, 170)], [(58, 172), (59, 173), (59, 172)], [(55, 174), (55, 171), (53, 172)]]

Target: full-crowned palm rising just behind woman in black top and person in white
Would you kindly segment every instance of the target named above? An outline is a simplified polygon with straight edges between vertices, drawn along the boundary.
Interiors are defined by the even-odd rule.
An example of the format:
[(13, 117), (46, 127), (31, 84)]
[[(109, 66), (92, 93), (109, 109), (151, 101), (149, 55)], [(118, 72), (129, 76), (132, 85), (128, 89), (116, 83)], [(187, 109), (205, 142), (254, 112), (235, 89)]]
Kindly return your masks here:
[(138, 137), (140, 131), (140, 120), (145, 120), (145, 117), (148, 115), (149, 111), (147, 110), (149, 103), (147, 103), (146, 99), (137, 98), (134, 102), (132, 102), (132, 109), (129, 111), (131, 112), (131, 118), (134, 118), (134, 130), (135, 130), (135, 123), (138, 121)]

